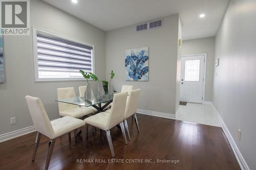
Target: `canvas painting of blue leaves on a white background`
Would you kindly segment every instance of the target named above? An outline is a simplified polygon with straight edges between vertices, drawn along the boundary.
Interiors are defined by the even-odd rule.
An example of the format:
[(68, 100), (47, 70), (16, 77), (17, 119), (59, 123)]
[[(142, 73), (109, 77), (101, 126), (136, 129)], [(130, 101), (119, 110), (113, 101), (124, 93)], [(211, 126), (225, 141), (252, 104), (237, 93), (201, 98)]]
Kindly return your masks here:
[(148, 47), (125, 50), (125, 80), (148, 81)]

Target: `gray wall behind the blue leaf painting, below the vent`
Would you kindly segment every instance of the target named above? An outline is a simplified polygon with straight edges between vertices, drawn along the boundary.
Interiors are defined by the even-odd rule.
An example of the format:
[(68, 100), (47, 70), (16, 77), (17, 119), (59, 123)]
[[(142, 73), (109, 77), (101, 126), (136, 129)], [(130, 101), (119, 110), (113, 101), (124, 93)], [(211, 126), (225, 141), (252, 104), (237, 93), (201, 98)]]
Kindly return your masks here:
[[(179, 15), (163, 18), (163, 27), (136, 32), (135, 26), (106, 33), (106, 79), (115, 71), (114, 89), (141, 88), (139, 109), (175, 114)], [(125, 81), (124, 51), (148, 46), (148, 81)]]

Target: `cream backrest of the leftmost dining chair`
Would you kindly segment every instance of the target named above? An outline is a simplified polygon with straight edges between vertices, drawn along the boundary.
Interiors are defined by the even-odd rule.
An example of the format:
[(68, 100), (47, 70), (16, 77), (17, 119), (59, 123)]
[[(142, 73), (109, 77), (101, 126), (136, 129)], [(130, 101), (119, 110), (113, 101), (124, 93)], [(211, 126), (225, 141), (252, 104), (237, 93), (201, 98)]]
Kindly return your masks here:
[(26, 95), (25, 98), (36, 131), (49, 138), (52, 138), (54, 135), (52, 124), (41, 100), (39, 98), (34, 98), (29, 95)]

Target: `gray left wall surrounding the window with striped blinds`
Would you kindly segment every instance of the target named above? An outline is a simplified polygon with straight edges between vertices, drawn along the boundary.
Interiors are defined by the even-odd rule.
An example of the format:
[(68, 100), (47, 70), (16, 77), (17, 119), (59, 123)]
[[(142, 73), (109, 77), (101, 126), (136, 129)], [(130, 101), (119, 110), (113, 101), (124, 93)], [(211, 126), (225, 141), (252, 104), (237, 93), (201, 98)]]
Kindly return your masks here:
[[(30, 1), (31, 26), (95, 45), (95, 72), (105, 79), (105, 33), (41, 1)], [(85, 81), (35, 82), (32, 34), (4, 36), (6, 83), (0, 84), (0, 134), (32, 126), (25, 95), (41, 98), (49, 118), (58, 117), (58, 87), (74, 87), (76, 92)], [(10, 125), (10, 117), (16, 124)]]

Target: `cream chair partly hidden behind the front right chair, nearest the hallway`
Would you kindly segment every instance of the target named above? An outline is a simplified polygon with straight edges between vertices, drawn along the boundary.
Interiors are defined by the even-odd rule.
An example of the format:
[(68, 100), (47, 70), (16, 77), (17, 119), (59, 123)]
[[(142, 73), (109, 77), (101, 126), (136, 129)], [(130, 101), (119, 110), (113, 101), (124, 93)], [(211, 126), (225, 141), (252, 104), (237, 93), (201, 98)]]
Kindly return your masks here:
[(129, 127), (127, 124), (127, 118), (132, 116), (135, 119), (137, 130), (138, 130), (138, 132), (140, 132), (138, 119), (136, 116), (136, 110), (138, 108), (139, 98), (140, 98), (140, 91), (141, 91), (141, 89), (132, 90), (130, 95), (127, 96), (123, 122), (124, 122), (126, 132), (128, 134), (129, 140), (131, 140), (131, 137), (130, 137)]

